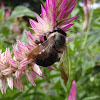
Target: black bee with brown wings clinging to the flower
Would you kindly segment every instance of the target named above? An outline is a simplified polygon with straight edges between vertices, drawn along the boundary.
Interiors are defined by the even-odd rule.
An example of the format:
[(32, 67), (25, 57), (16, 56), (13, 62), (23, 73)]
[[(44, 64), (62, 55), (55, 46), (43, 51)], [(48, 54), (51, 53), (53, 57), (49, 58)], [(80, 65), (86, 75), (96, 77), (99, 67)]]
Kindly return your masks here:
[(27, 60), (32, 59), (39, 66), (48, 67), (59, 61), (66, 48), (66, 33), (55, 27), (53, 31), (43, 34), (44, 41), (36, 39), (38, 46), (30, 53)]

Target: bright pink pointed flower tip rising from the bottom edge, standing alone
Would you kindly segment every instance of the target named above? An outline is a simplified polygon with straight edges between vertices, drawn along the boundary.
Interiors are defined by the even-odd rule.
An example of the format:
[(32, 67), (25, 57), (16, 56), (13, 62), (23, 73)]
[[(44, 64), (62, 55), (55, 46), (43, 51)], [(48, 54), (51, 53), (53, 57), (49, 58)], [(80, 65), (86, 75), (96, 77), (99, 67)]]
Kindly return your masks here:
[(77, 95), (77, 91), (76, 91), (76, 82), (75, 80), (72, 82), (72, 86), (71, 86), (71, 90), (70, 90), (70, 94), (69, 94), (69, 98), (68, 100), (76, 100), (76, 95)]

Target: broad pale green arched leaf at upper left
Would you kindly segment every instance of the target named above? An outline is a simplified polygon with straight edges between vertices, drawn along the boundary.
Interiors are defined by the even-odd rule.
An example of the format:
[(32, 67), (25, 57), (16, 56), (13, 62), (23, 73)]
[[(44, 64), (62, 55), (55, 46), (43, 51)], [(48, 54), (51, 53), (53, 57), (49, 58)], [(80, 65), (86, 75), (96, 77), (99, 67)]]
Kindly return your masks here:
[(29, 16), (29, 17), (35, 17), (35, 14), (32, 10), (25, 6), (17, 6), (11, 13), (10, 18), (17, 18), (17, 17), (23, 17), (23, 16)]

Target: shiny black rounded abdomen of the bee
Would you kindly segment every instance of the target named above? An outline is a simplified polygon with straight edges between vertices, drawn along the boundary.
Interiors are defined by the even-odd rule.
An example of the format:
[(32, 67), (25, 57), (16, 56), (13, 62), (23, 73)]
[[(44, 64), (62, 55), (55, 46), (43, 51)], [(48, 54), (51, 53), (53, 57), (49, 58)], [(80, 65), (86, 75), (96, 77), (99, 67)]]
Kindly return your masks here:
[(51, 52), (47, 58), (41, 58), (41, 55), (37, 55), (35, 63), (39, 66), (48, 67), (54, 64), (57, 61), (57, 58), (58, 58), (57, 52)]

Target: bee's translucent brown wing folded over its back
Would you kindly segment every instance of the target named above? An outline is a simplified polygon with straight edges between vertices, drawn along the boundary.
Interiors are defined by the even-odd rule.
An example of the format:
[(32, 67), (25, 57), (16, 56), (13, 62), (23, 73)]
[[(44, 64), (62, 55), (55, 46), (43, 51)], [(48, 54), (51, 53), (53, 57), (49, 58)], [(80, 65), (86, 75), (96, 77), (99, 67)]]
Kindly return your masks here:
[(41, 45), (34, 48), (33, 51), (27, 57), (27, 60), (30, 60), (31, 58), (34, 59), (39, 54), (39, 52), (41, 52), (43, 49), (46, 50), (45, 54), (47, 56), (53, 44), (54, 44), (54, 37), (50, 37), (48, 40), (43, 42)]

